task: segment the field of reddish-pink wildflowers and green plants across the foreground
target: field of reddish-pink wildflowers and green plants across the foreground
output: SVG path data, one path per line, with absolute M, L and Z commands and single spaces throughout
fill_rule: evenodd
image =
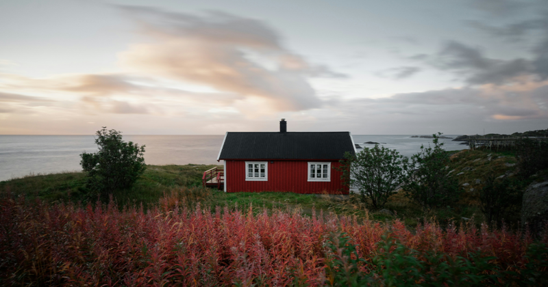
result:
M 542 286 L 548 235 L 262 208 L 4 195 L 2 286 Z

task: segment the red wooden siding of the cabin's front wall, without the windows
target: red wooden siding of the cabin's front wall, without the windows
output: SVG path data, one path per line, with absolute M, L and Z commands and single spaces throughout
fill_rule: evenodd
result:
M 318 160 L 314 160 L 320 162 Z M 226 161 L 225 184 L 227 192 L 290 191 L 295 193 L 331 193 L 348 194 L 340 180 L 340 172 L 333 167 L 340 166 L 337 161 L 331 162 L 330 182 L 309 182 L 308 161 L 274 161 L 269 162 L 268 181 L 246 181 L 245 161 Z

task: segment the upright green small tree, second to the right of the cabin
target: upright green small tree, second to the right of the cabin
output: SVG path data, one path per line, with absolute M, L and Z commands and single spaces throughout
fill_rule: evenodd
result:
M 445 169 L 449 154 L 439 142 L 440 135 L 443 133 L 433 135 L 433 148 L 421 146 L 421 151 L 411 156 L 413 171 L 403 185 L 407 196 L 423 208 L 454 202 L 460 193 L 458 181 L 450 178 Z

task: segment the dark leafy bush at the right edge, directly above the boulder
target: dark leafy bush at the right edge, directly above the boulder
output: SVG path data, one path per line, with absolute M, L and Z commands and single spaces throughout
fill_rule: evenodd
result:
M 516 141 L 516 158 L 519 173 L 525 178 L 548 168 L 548 141 L 519 139 Z

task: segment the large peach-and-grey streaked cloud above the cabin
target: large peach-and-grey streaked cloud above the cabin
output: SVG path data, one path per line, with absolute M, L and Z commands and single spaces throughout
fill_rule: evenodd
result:
M 134 6 L 120 9 L 139 23 L 140 33 L 155 40 L 119 54 L 121 64 L 141 72 L 263 98 L 278 111 L 322 106 L 309 77 L 345 77 L 291 53 L 278 33 L 260 20 L 222 12 L 197 16 Z

